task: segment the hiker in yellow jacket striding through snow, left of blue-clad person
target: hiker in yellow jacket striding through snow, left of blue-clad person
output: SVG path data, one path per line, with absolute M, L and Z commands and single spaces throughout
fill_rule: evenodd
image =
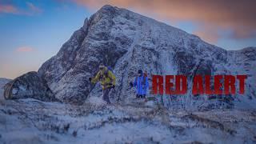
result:
M 115 86 L 115 76 L 111 70 L 109 70 L 106 66 L 101 64 L 99 66 L 98 73 L 94 78 L 89 78 L 89 81 L 92 83 L 97 83 L 98 81 L 102 85 L 103 90 L 103 100 L 107 102 L 107 104 L 110 104 L 110 98 L 109 93 L 110 90 Z

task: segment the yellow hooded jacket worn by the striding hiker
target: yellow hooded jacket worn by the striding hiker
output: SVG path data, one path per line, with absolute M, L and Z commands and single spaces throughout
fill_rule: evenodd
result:
M 91 79 L 91 82 L 93 83 L 97 83 L 98 81 L 102 85 L 102 90 L 105 90 L 110 86 L 115 86 L 115 76 L 110 70 L 107 70 L 107 67 L 99 70 L 96 76 Z

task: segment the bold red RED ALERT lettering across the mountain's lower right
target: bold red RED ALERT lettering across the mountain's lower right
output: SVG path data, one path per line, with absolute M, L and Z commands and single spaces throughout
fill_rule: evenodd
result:
M 192 94 L 239 94 L 245 93 L 246 75 L 196 75 L 193 78 Z M 211 80 L 212 79 L 212 80 Z M 236 82 L 239 85 L 236 85 Z M 164 93 L 164 77 L 161 75 L 152 76 L 152 93 Z M 211 89 L 214 86 L 214 90 Z M 238 87 L 236 87 L 238 86 Z M 185 75 L 165 76 L 166 94 L 186 94 L 187 78 Z

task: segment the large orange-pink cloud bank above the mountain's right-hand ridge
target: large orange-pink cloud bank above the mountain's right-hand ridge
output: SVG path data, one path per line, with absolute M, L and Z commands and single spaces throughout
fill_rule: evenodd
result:
M 66 0 L 67 1 L 67 0 Z M 198 23 L 195 34 L 218 40 L 218 30 L 232 30 L 230 38 L 256 37 L 256 1 L 254 0 L 70 0 L 90 10 L 105 4 L 124 7 L 158 20 Z M 64 1 L 65 2 L 65 1 Z M 203 31 L 214 32 L 206 34 Z

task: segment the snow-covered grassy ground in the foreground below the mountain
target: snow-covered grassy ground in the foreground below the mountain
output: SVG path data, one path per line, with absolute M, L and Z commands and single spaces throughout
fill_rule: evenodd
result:
M 254 143 L 256 110 L 167 111 L 159 106 L 72 106 L 0 101 L 3 143 Z

